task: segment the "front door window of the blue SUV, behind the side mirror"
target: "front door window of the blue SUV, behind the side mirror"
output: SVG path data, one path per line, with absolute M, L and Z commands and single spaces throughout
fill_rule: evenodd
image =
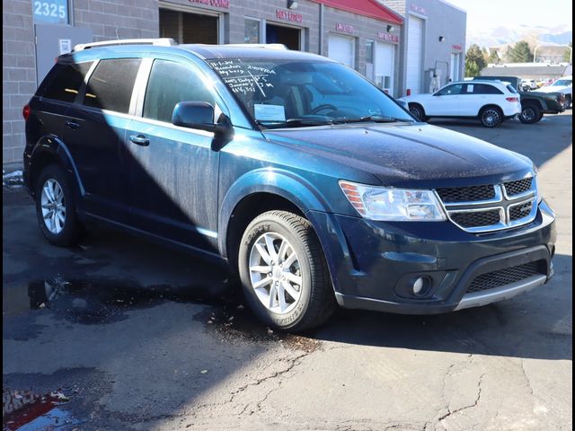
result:
M 155 60 L 147 83 L 143 116 L 171 123 L 173 108 L 180 101 L 208 101 L 212 105 L 215 102 L 191 66 Z

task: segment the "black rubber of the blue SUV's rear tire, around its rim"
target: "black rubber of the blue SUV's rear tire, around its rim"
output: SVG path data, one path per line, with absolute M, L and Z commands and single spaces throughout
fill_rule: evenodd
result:
M 60 189 L 63 193 L 62 202 L 65 207 L 64 221 L 62 222 L 60 232 L 50 232 L 49 226 L 45 221 L 42 210 L 42 189 L 47 184 L 48 181 L 57 181 Z M 69 247 L 75 245 L 82 232 L 82 226 L 78 221 L 75 212 L 75 201 L 72 189 L 70 187 L 70 181 L 66 176 L 66 172 L 56 164 L 50 164 L 45 167 L 38 176 L 36 181 L 36 216 L 38 217 L 38 224 L 40 225 L 40 231 L 44 234 L 48 242 L 52 245 L 57 245 L 59 247 Z

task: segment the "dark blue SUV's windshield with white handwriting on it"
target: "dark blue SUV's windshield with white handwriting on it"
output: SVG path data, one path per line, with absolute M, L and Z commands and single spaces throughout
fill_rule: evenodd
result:
M 391 97 L 338 63 L 253 58 L 208 63 L 263 128 L 414 121 Z

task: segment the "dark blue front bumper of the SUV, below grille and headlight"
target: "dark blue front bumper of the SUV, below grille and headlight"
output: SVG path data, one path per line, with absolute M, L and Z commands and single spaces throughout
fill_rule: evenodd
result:
M 385 223 L 310 212 L 346 308 L 431 314 L 484 305 L 526 292 L 552 276 L 554 215 L 543 201 L 535 220 L 517 229 L 477 235 L 450 222 Z M 537 273 L 479 292 L 468 292 L 485 274 L 535 264 Z M 413 295 L 418 277 L 429 280 Z

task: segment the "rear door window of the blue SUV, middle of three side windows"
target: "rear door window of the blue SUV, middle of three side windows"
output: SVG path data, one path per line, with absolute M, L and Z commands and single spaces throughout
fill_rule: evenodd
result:
M 139 58 L 102 60 L 90 76 L 84 105 L 127 113 L 139 66 Z

